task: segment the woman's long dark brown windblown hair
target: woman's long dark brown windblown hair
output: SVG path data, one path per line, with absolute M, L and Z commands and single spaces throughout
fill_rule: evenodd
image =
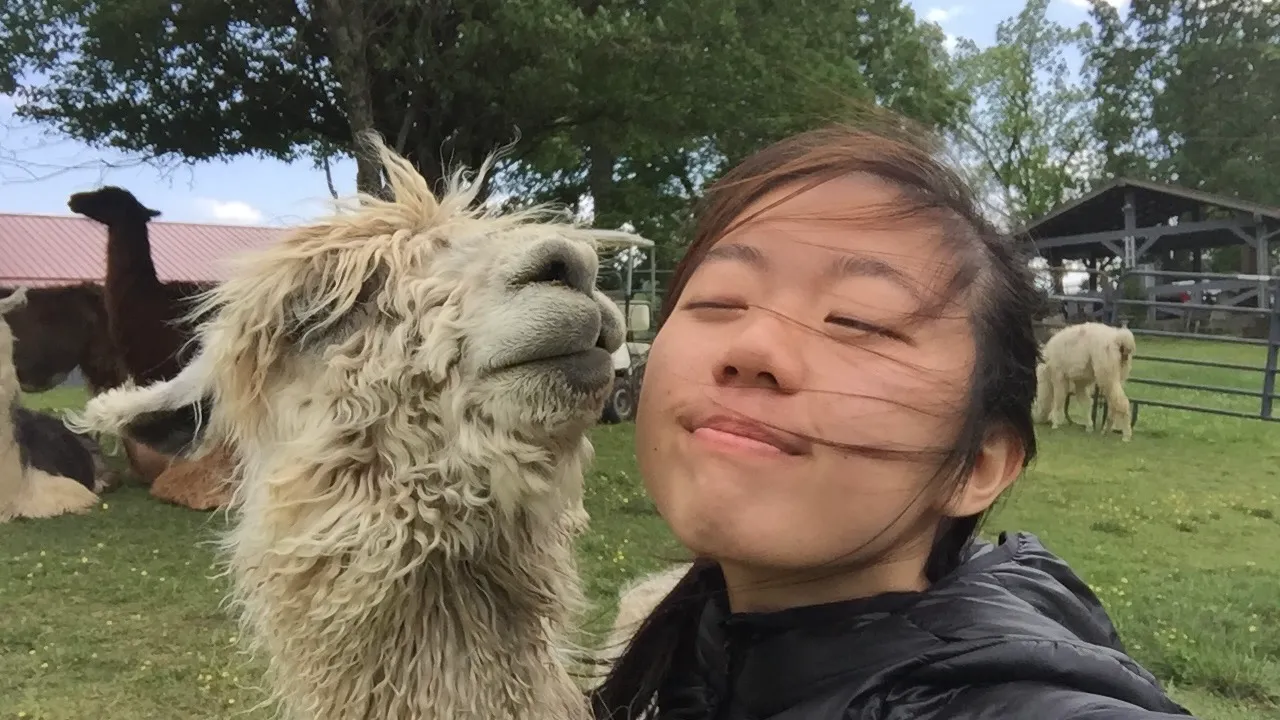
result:
M 890 223 L 923 219 L 941 229 L 957 260 L 942 301 L 966 302 L 977 348 L 970 401 L 938 477 L 956 486 L 963 483 L 992 430 L 1006 432 L 1021 443 L 1025 466 L 1036 456 L 1030 407 L 1039 359 L 1033 331 L 1039 297 L 1029 256 L 982 215 L 968 183 L 938 160 L 929 132 L 879 111 L 869 111 L 868 117 L 869 122 L 856 126 L 832 124 L 782 140 L 716 182 L 696 209 L 694 237 L 676 265 L 662 316 L 671 315 L 712 246 L 764 211 L 748 217 L 748 209 L 764 196 L 794 188 L 791 196 L 852 174 L 886 181 L 900 191 L 901 201 L 892 208 L 877 208 L 876 218 L 870 219 Z M 852 450 L 886 455 L 874 448 Z M 960 565 L 980 521 L 982 514 L 942 521 L 925 566 L 929 582 Z M 667 676 L 677 670 L 672 664 L 691 659 L 701 610 L 708 597 L 719 592 L 724 587 L 716 564 L 696 560 L 637 628 L 622 657 L 593 693 L 595 717 L 639 717 L 655 702 Z

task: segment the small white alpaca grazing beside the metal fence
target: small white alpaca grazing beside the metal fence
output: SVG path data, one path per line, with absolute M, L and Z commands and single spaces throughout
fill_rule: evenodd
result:
M 1089 407 L 1089 388 L 1097 386 L 1107 401 L 1102 432 L 1119 427 L 1123 438 L 1132 439 L 1133 423 L 1124 383 L 1133 369 L 1135 348 L 1129 328 L 1080 323 L 1059 331 L 1044 343 L 1044 361 L 1036 368 L 1036 420 L 1052 423 L 1057 429 L 1066 423 L 1068 396 L 1074 395 L 1078 407 Z

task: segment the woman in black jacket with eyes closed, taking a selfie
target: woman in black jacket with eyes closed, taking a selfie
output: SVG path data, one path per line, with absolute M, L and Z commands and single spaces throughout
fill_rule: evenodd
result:
M 975 541 L 1036 455 L 1039 300 L 909 132 L 809 132 L 709 191 L 636 419 L 698 561 L 596 717 L 1187 715 L 1034 537 Z

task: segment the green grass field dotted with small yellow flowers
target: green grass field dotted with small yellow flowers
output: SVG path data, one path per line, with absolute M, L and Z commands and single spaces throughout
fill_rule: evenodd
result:
M 1261 363 L 1251 347 L 1139 343 L 1139 354 Z M 1143 361 L 1134 375 L 1260 386 L 1257 375 Z M 1140 384 L 1129 392 L 1257 402 Z M 1280 425 L 1148 407 L 1129 445 L 1080 428 L 1041 437 L 1039 460 L 987 534 L 1032 530 L 1066 557 L 1130 652 L 1197 716 L 1280 720 Z M 594 438 L 593 530 L 581 557 L 602 629 L 618 584 L 678 548 L 640 488 L 631 427 Z M 207 541 L 219 523 L 129 487 L 88 516 L 0 527 L 0 720 L 268 717 L 246 712 L 261 697 L 257 670 L 237 652 L 219 606 L 223 582 L 211 577 Z

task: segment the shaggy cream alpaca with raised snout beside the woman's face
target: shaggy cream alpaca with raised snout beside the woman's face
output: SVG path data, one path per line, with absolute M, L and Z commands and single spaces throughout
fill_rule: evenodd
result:
M 285 716 L 586 719 L 572 542 L 623 340 L 595 242 L 621 233 L 472 208 L 461 173 L 436 199 L 378 151 L 393 201 L 246 256 L 182 374 L 68 421 L 211 400 L 205 442 L 238 461 L 233 598 Z

